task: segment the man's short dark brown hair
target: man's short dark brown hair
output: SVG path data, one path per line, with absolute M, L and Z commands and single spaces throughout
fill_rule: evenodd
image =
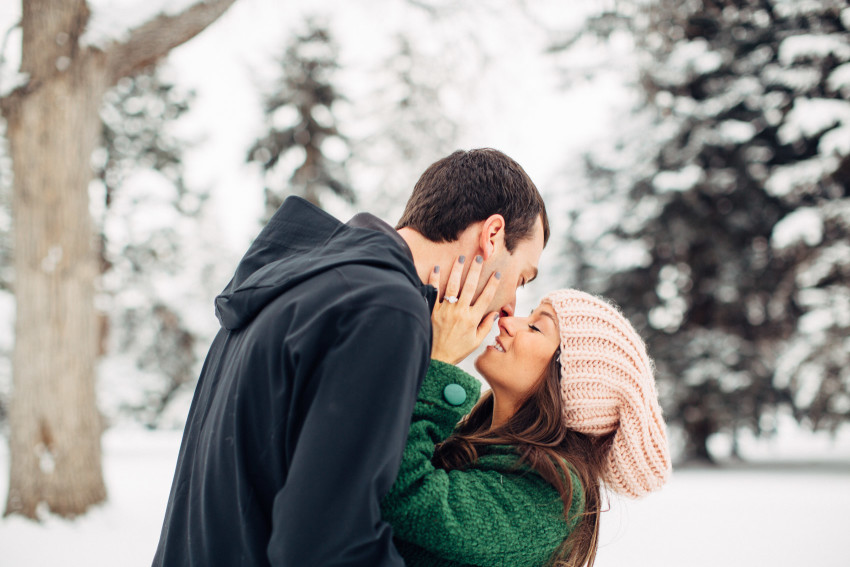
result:
M 538 216 L 543 242 L 549 241 L 543 198 L 525 170 L 498 150 L 458 150 L 425 170 L 396 228 L 410 227 L 432 242 L 453 242 L 469 225 L 495 214 L 505 219 L 508 252 L 531 237 Z

